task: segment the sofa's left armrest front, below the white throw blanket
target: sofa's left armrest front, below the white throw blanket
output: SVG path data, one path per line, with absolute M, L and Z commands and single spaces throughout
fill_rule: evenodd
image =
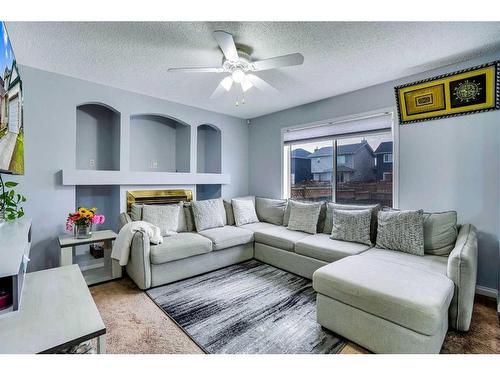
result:
M 151 288 L 151 263 L 149 260 L 149 237 L 137 232 L 132 239 L 127 274 L 141 289 Z

